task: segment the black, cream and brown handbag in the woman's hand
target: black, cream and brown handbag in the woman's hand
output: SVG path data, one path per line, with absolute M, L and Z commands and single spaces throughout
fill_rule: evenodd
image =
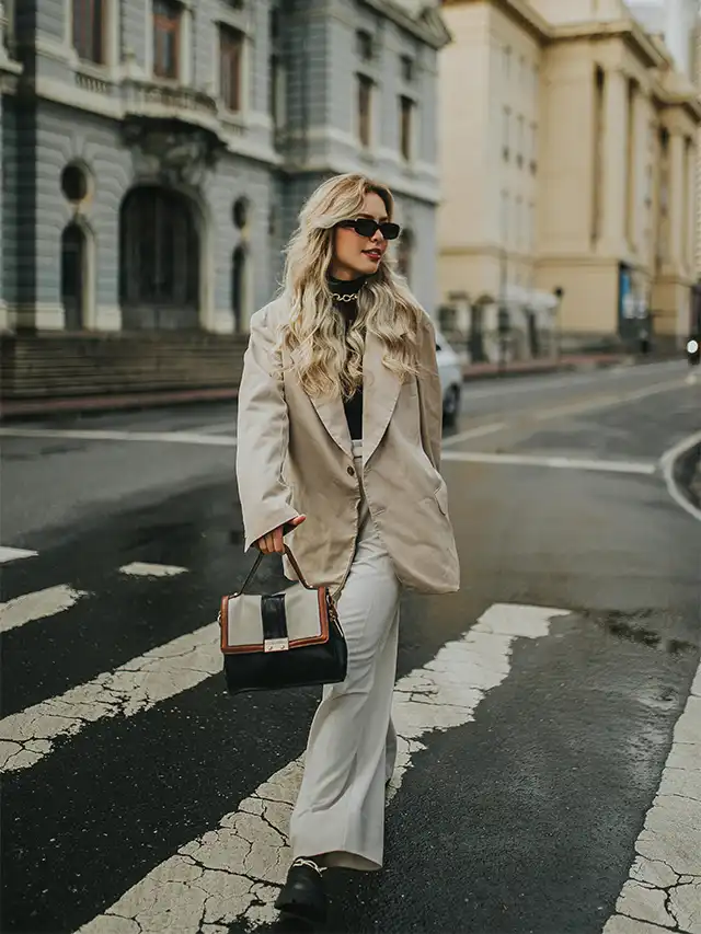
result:
M 227 690 L 267 691 L 334 684 L 346 677 L 348 649 L 327 587 L 310 587 L 291 551 L 299 584 L 278 593 L 245 593 L 263 553 L 241 589 L 221 598 L 219 624 Z

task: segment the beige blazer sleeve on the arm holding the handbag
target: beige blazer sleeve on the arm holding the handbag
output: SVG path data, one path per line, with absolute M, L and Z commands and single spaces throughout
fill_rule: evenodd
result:
M 274 373 L 275 335 L 266 310 L 251 319 L 239 388 L 237 481 L 244 551 L 299 514 L 283 480 L 289 423 L 281 378 Z

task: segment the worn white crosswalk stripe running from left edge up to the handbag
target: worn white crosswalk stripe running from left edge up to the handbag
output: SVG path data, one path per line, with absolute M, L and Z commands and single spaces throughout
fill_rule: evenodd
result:
M 0 772 L 30 769 L 57 739 L 107 717 L 133 717 L 221 671 L 219 624 L 179 636 L 58 697 L 0 720 Z

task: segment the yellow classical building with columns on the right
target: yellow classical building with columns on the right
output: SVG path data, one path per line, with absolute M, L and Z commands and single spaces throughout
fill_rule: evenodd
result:
M 509 356 L 681 341 L 701 103 L 663 43 L 622 0 L 441 9 L 444 325 L 475 358 L 496 354 L 499 304 Z

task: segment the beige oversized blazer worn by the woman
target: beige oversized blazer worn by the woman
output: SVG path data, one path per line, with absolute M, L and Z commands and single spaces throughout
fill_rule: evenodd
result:
M 332 590 L 345 583 L 358 530 L 360 478 L 340 399 L 312 400 L 274 349 L 289 320 L 283 297 L 251 319 L 239 390 L 237 477 L 245 549 L 303 514 L 286 537 L 303 575 Z M 399 580 L 425 593 L 460 586 L 448 493 L 439 474 L 443 393 L 434 327 L 420 334 L 424 376 L 402 382 L 368 335 L 364 357 L 363 488 Z M 294 579 L 287 558 L 285 573 Z

